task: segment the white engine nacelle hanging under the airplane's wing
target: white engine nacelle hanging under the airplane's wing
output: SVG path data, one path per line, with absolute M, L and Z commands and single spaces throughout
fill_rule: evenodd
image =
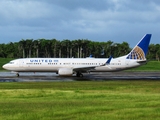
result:
M 59 76 L 72 76 L 73 70 L 71 68 L 60 68 L 58 74 Z

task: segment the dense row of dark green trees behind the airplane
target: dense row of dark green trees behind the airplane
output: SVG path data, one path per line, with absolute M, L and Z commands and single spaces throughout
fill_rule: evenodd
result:
M 114 43 L 95 42 L 88 39 L 56 40 L 56 39 L 22 39 L 19 42 L 0 44 L 1 58 L 85 58 L 93 55 L 96 58 L 108 58 L 128 54 L 131 48 L 127 42 Z M 160 58 L 160 44 L 150 44 L 147 58 L 158 60 Z

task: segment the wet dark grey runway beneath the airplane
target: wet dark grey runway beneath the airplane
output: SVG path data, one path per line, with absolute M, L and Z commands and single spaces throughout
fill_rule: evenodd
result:
M 43 82 L 43 81 L 105 81 L 105 80 L 160 80 L 160 72 L 102 72 L 85 73 L 83 77 L 61 77 L 55 73 L 20 73 L 17 77 L 15 73 L 0 72 L 0 82 Z

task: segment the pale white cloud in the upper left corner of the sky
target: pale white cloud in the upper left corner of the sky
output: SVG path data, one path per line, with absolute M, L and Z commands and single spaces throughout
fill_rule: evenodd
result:
M 51 14 L 46 4 L 38 1 L 1 0 L 0 15 L 7 19 L 41 18 Z

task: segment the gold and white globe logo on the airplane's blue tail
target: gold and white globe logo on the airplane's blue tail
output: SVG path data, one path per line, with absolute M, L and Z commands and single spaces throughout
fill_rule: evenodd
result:
M 145 54 L 143 50 L 139 47 L 136 46 L 127 56 L 127 59 L 138 59 L 138 60 L 145 60 Z

